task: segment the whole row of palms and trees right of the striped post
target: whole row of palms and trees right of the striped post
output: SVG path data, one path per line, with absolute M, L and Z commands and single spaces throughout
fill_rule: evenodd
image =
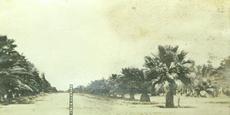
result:
M 78 86 L 75 92 L 124 98 L 129 94 L 141 94 L 140 101 L 150 102 L 150 95 L 165 95 L 166 107 L 174 107 L 174 95 L 216 97 L 221 93 L 230 95 L 230 57 L 214 68 L 208 61 L 195 65 L 186 58 L 187 52 L 178 46 L 158 46 L 158 53 L 145 56 L 143 68 L 122 68 L 121 73 L 108 79 L 92 81 L 88 86 Z

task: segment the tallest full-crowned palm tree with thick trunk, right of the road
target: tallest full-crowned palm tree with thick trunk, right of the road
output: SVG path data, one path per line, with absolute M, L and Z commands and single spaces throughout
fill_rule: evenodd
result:
M 147 79 L 155 84 L 167 84 L 166 107 L 174 107 L 173 95 L 176 94 L 176 80 L 188 85 L 189 66 L 192 61 L 185 60 L 187 53 L 179 52 L 178 46 L 158 46 L 158 55 L 146 56 L 145 67 Z

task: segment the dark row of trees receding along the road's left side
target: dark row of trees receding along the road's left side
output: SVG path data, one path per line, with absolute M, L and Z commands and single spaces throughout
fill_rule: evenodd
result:
M 13 99 L 54 92 L 37 68 L 25 56 L 15 50 L 13 39 L 0 36 L 0 103 L 11 103 Z

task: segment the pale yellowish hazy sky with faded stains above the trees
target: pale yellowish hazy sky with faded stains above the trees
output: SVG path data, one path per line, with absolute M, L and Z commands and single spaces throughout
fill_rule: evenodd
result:
M 230 55 L 229 0 L 0 0 L 0 34 L 59 89 L 142 67 L 157 45 Z

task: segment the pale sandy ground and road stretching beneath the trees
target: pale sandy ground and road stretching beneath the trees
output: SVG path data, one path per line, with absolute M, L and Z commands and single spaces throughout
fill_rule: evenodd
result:
M 136 97 L 138 98 L 138 96 Z M 183 108 L 162 108 L 164 97 L 152 103 L 74 95 L 74 115 L 230 115 L 230 98 L 181 97 Z M 49 94 L 34 104 L 0 105 L 0 115 L 68 115 L 68 94 Z

